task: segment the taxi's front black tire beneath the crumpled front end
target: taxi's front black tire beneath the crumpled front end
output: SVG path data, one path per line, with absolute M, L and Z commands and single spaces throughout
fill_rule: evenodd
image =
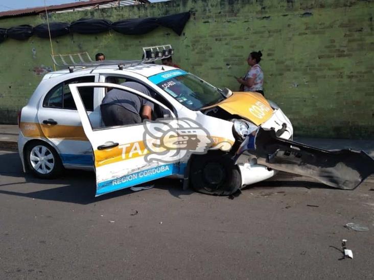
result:
M 238 167 L 222 152 L 194 156 L 190 179 L 195 191 L 211 195 L 231 195 L 242 185 Z

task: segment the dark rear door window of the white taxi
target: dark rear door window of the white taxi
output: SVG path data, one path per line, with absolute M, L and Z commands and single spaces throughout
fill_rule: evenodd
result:
M 58 84 L 45 96 L 43 107 L 77 110 L 72 93 L 69 89 L 69 84 L 91 82 L 95 82 L 95 76 L 75 78 Z M 80 96 L 86 110 L 93 111 L 93 89 L 82 88 Z

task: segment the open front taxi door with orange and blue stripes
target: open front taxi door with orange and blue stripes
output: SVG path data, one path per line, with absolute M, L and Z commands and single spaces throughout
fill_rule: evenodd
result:
M 151 153 L 146 148 L 144 139 L 146 130 L 152 129 L 153 125 L 157 126 L 156 130 L 160 129 L 160 123 L 147 122 L 146 124 L 143 122 L 123 126 L 93 126 L 79 94 L 80 89 L 87 87 L 125 90 L 149 99 L 153 104 L 168 111 L 174 120 L 175 115 L 152 97 L 128 87 L 108 83 L 70 85 L 84 132 L 93 150 L 97 184 L 96 196 L 179 173 L 177 161 L 163 160 L 163 155 L 167 153 L 157 154 L 156 157 L 148 156 Z M 151 160 L 147 160 L 147 158 Z

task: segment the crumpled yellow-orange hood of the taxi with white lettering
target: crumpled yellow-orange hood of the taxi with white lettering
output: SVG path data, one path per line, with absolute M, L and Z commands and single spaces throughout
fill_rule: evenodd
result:
M 230 97 L 216 106 L 232 115 L 250 120 L 256 125 L 267 121 L 273 114 L 273 109 L 265 97 L 256 92 L 233 92 Z

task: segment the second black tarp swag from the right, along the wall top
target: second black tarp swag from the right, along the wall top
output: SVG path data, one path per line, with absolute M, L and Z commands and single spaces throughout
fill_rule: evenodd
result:
M 114 31 L 126 35 L 141 35 L 158 27 L 156 17 L 132 18 L 116 21 L 112 24 Z

